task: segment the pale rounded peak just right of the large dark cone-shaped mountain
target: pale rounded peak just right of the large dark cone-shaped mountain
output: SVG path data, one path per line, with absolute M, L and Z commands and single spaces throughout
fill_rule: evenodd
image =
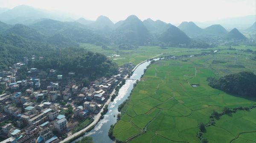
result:
M 197 25 L 195 25 L 194 22 L 182 22 L 178 28 L 185 32 L 189 36 L 198 36 L 204 32 L 204 30 Z

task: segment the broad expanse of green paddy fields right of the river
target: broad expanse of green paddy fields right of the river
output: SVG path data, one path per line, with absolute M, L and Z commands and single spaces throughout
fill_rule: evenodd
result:
M 244 70 L 255 73 L 254 56 L 223 48 L 215 54 L 154 62 L 134 87 L 113 135 L 131 143 L 199 143 L 198 124 L 208 123 L 214 110 L 256 104 L 255 99 L 209 87 L 207 78 Z M 223 115 L 215 122 L 204 133 L 209 143 L 255 143 L 256 109 Z

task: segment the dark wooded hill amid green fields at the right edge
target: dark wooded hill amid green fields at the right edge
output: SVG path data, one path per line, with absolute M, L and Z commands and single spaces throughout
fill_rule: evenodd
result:
M 251 72 L 230 74 L 220 79 L 208 78 L 208 82 L 211 87 L 227 93 L 256 97 L 256 75 Z

